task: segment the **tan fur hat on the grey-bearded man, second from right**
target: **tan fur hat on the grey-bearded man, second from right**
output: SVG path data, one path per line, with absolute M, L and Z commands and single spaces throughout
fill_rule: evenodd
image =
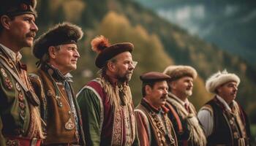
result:
M 194 80 L 197 77 L 197 71 L 192 66 L 167 66 L 163 73 L 169 75 L 172 81 L 186 76 Z

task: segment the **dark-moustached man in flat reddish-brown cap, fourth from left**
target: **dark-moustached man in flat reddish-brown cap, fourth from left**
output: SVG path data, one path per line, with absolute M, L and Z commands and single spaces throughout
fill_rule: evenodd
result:
M 147 72 L 140 76 L 140 80 L 143 82 L 143 99 L 135 109 L 140 146 L 177 146 L 173 124 L 165 107 L 170 77 L 161 72 Z

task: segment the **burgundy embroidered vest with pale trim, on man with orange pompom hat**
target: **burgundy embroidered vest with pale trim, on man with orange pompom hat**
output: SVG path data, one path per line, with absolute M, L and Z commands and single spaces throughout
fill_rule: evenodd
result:
M 132 145 L 135 140 L 135 114 L 132 104 L 115 108 L 100 84 L 92 80 L 84 88 L 89 88 L 98 96 L 101 103 L 99 123 L 100 145 Z M 111 98 L 111 97 L 110 97 Z

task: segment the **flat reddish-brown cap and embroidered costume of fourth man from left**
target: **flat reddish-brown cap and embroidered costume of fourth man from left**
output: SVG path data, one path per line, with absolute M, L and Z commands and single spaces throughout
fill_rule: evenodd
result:
M 143 84 L 169 80 L 170 77 L 158 73 L 148 72 L 140 76 Z M 138 125 L 138 137 L 140 146 L 149 145 L 178 145 L 173 124 L 167 117 L 169 110 L 163 105 L 156 108 L 144 97 L 135 109 L 135 116 Z

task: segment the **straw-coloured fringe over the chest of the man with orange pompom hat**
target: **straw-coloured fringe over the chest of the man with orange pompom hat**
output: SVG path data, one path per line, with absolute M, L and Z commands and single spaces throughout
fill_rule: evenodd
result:
M 104 77 L 100 77 L 99 81 L 107 94 L 108 101 L 111 105 L 113 105 L 113 107 L 117 109 L 120 108 L 121 98 L 124 99 L 125 105 L 132 104 L 132 93 L 127 84 L 123 84 L 120 88 L 118 88 L 117 85 L 113 87 L 113 85 L 106 81 Z M 124 97 L 119 96 L 120 91 L 124 93 Z

